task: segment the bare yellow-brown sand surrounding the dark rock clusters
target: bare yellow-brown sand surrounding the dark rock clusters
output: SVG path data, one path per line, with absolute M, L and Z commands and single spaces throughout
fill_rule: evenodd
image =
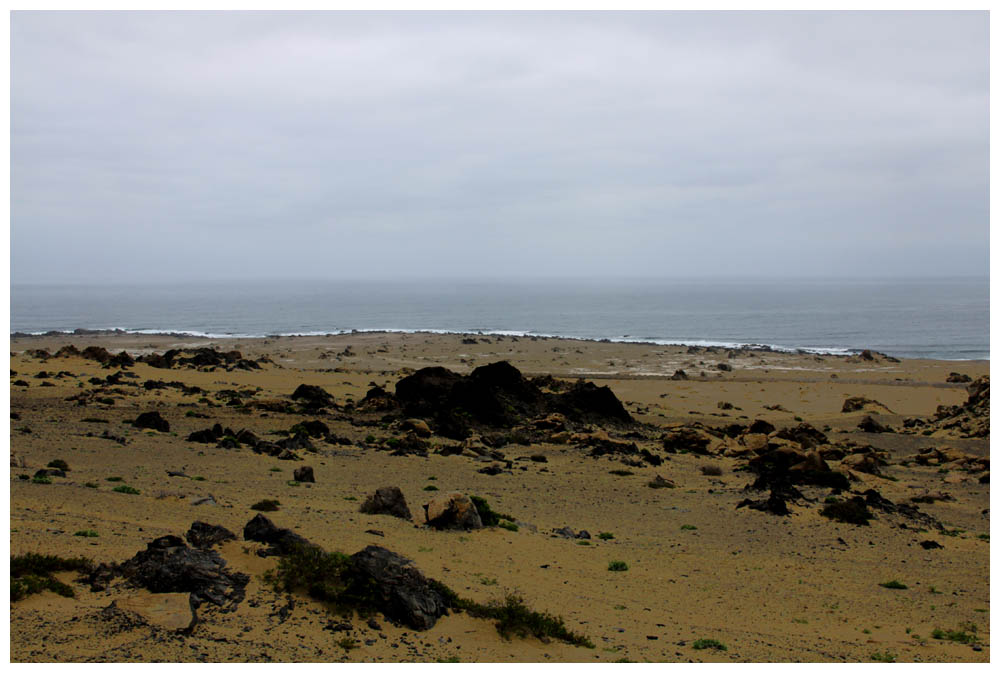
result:
M 989 456 L 988 439 L 870 434 L 856 430 L 866 412 L 842 413 L 845 399 L 864 396 L 892 413 L 877 418 L 899 428 L 903 419 L 930 417 L 938 405 L 963 403 L 962 384 L 946 383 L 951 372 L 973 378 L 988 374 L 988 362 L 814 356 L 725 350 L 689 353 L 681 346 L 597 343 L 559 339 L 470 337 L 433 334 L 350 334 L 330 337 L 204 340 L 171 336 L 94 335 L 14 338 L 11 369 L 12 467 L 11 554 L 84 555 L 121 562 L 161 535 L 183 535 L 195 520 L 236 532 L 221 549 L 230 567 L 251 576 L 247 599 L 234 612 L 199 610 L 190 633 L 125 623 L 102 612 L 118 600 L 154 601 L 148 592 L 118 583 L 108 592 L 76 586 L 73 598 L 52 593 L 11 606 L 11 660 L 27 661 L 461 661 L 461 662 L 672 662 L 672 661 L 897 661 L 989 660 L 989 484 L 979 474 L 915 463 L 900 464 L 927 447 L 955 448 Z M 113 405 L 78 406 L 66 398 L 92 388 L 90 377 L 113 371 L 78 357 L 44 361 L 28 349 L 54 352 L 66 344 L 100 345 L 132 355 L 168 348 L 211 345 L 238 349 L 245 357 L 269 356 L 260 371 L 213 372 L 154 369 L 136 364 L 134 381 L 182 381 L 209 391 L 260 389 L 255 399 L 288 399 L 302 383 L 322 386 L 338 403 L 360 400 L 370 382 L 390 391 L 405 373 L 441 365 L 468 373 L 507 360 L 525 375 L 586 378 L 609 386 L 633 417 L 653 426 L 701 422 L 722 426 L 766 419 L 777 427 L 800 420 L 828 427 L 831 442 L 855 441 L 888 452 L 886 477 L 856 474 L 852 490 L 877 489 L 893 502 L 940 491 L 953 501 L 921 504 L 944 532 L 900 527 L 900 519 L 877 515 L 870 526 L 836 523 L 819 515 L 822 503 L 792 506 L 774 516 L 736 505 L 747 497 L 752 475 L 734 472 L 744 461 L 726 456 L 673 454 L 658 467 L 625 468 L 607 457 L 591 458 L 571 444 L 510 444 L 511 474 L 478 472 L 488 463 L 465 456 L 392 456 L 359 446 L 378 427 L 324 421 L 351 445 L 320 444 L 302 463 L 185 441 L 215 422 L 249 428 L 264 437 L 311 417 L 241 413 L 233 407 L 197 403 L 174 389 L 122 387 Z M 345 349 L 350 347 L 350 354 Z M 720 371 L 720 363 L 732 371 Z M 671 380 L 683 369 L 689 379 Z M 66 371 L 78 378 L 36 379 L 40 371 Z M 52 386 L 42 387 L 47 381 Z M 723 410 L 728 402 L 733 409 Z M 194 405 L 182 407 L 181 404 Z M 766 407 L 780 405 L 777 410 Z M 136 430 L 124 421 L 159 411 L 170 432 Z M 192 418 L 188 411 L 210 418 Z M 107 424 L 84 422 L 101 418 Z M 98 436 L 105 429 L 125 445 Z M 432 442 L 441 441 L 435 437 Z M 646 442 L 651 449 L 658 447 Z M 541 454 L 547 462 L 517 458 Z M 19 478 L 49 461 L 70 465 L 65 479 L 36 484 Z M 17 462 L 18 465 L 14 466 Z M 23 466 L 22 466 L 23 464 Z M 292 470 L 311 465 L 315 484 L 289 485 Z M 715 465 L 721 475 L 705 475 Z M 521 468 L 525 469 L 521 469 Z M 190 477 L 168 477 L 183 470 Z M 652 489 L 661 475 L 673 489 Z M 139 495 L 117 493 L 117 482 Z M 95 484 L 96 488 L 85 484 Z M 381 486 L 402 489 L 410 509 L 435 494 L 457 490 L 489 500 L 515 517 L 517 532 L 499 528 L 437 531 L 390 516 L 358 512 Z M 208 495 L 216 504 L 195 505 Z M 277 498 L 268 516 L 328 550 L 353 553 L 369 544 L 412 559 L 428 577 L 463 596 L 486 601 L 510 592 L 532 608 L 562 616 L 589 637 L 593 649 L 535 638 L 504 640 L 493 625 L 466 614 L 443 617 L 430 630 L 400 628 L 379 616 L 379 630 L 355 617 L 352 631 L 327 627 L 344 621 L 305 596 L 278 594 L 262 580 L 276 561 L 253 552 L 259 545 L 240 534 L 252 503 Z M 553 537 L 555 528 L 585 529 L 589 544 Z M 366 532 L 378 530 L 382 536 Z M 74 535 L 93 530 L 97 537 Z M 953 532 L 953 531 L 961 532 Z M 597 534 L 611 533 L 601 540 Z M 985 535 L 985 539 L 980 536 Z M 933 540 L 942 549 L 925 550 Z M 611 561 L 628 570 L 610 572 Z M 73 573 L 65 575 L 67 579 Z M 897 580 L 905 590 L 883 588 Z M 136 597 L 140 598 L 136 598 Z M 291 609 L 282 610 L 292 604 Z M 970 631 L 978 644 L 936 640 L 934 629 Z M 356 648 L 338 644 L 347 636 Z M 712 638 L 725 650 L 694 649 Z

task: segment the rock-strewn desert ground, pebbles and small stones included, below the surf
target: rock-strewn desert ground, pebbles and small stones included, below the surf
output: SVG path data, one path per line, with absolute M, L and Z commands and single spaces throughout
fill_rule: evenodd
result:
M 57 357 L 67 345 L 94 348 Z M 128 362 L 204 348 L 239 358 Z M 129 357 L 102 363 L 99 349 Z M 393 397 L 422 368 L 468 375 L 501 361 L 547 400 L 578 379 L 608 386 L 633 421 L 546 409 L 503 427 L 473 418 L 456 438 L 442 434 L 433 401 L 407 423 L 410 408 Z M 235 534 L 212 548 L 249 578 L 242 600 L 202 602 L 192 621 L 184 592 L 122 576 L 92 588 L 86 573 L 56 573 L 73 596 L 11 604 L 14 662 L 990 658 L 988 378 L 985 415 L 963 406 L 988 362 L 496 335 L 92 334 L 14 336 L 10 368 L 12 557 L 113 566 L 201 521 Z M 303 384 L 332 400 L 293 400 Z M 387 396 L 370 394 L 379 388 Z M 851 398 L 864 399 L 844 411 Z M 133 424 L 148 412 L 169 429 Z M 328 431 L 280 453 L 230 435 L 273 446 L 314 420 Z M 215 424 L 219 441 L 189 439 Z M 65 476 L 36 476 L 59 460 Z M 295 479 L 303 466 L 314 483 Z M 748 488 L 758 478 L 773 481 L 770 498 Z M 383 487 L 400 489 L 412 520 L 359 511 Z M 452 492 L 485 498 L 513 525 L 426 525 L 423 506 Z M 280 554 L 261 556 L 264 545 L 244 537 L 262 499 L 280 502 L 263 513 L 276 526 L 324 550 L 378 545 L 463 598 L 519 595 L 593 647 L 504 638 L 468 610 L 418 630 L 279 590 L 264 574 Z M 866 525 L 821 513 L 847 501 L 867 503 Z

